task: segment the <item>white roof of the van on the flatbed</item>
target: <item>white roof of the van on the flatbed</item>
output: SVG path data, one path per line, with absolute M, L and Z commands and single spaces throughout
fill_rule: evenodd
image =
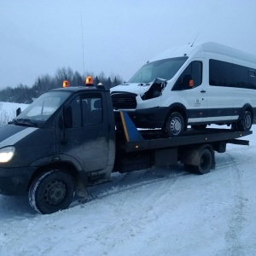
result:
M 235 57 L 236 59 L 256 63 L 256 55 L 251 55 L 240 49 L 235 49 L 230 46 L 226 46 L 224 44 L 218 44 L 218 43 L 212 43 L 212 42 L 201 43 L 201 44 L 186 44 L 186 45 L 175 47 L 172 49 L 167 49 L 166 51 L 160 53 L 159 55 L 154 55 L 154 57 L 151 58 L 149 62 L 168 59 L 168 58 L 181 57 L 181 56 L 190 57 L 195 54 L 198 54 L 199 52 L 210 52 L 210 53 L 216 53 L 220 55 L 227 55 L 227 56 Z

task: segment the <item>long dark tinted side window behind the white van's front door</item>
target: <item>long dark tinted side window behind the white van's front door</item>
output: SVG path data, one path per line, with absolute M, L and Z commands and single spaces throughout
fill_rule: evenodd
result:
M 230 62 L 209 60 L 209 84 L 256 89 L 255 70 Z

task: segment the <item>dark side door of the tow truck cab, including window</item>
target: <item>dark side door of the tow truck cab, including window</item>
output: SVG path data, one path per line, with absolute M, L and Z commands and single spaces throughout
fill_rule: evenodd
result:
M 73 98 L 70 102 L 73 125 L 60 131 L 56 143 L 57 153 L 78 160 L 85 172 L 101 170 L 108 165 L 108 113 L 103 108 L 103 100 L 99 92 Z

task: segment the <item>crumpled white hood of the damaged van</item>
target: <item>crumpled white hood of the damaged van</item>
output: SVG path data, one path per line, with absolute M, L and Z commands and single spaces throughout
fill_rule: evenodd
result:
M 115 92 L 130 92 L 130 93 L 135 93 L 137 95 L 143 96 L 145 92 L 147 92 L 152 85 L 158 84 L 161 86 L 161 88 L 165 88 L 167 81 L 166 79 L 154 79 L 151 83 L 148 84 L 143 84 L 143 83 L 131 83 L 131 84 L 120 84 L 112 89 L 110 89 L 111 94 Z

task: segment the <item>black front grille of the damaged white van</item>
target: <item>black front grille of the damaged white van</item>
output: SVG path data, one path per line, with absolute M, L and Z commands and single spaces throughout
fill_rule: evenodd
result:
M 137 108 L 136 94 L 113 92 L 111 95 L 113 109 L 135 109 Z

